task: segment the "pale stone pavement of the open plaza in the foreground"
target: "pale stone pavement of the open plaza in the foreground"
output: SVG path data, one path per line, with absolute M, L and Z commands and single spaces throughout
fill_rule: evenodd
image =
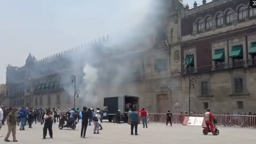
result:
M 164 127 L 162 123 L 150 123 L 148 129 L 139 125 L 139 136 L 130 135 L 130 126 L 122 123 L 103 122 L 103 130 L 100 134 L 93 134 L 93 126 L 88 126 L 87 139 L 80 138 L 80 123 L 76 130 L 58 129 L 53 125 L 54 139 L 42 140 L 42 125 L 33 125 L 32 129 L 19 131 L 17 127 L 17 139 L 19 144 L 255 144 L 256 129 L 234 128 L 220 126 L 220 135 L 203 135 L 201 127 L 173 125 Z M 6 135 L 7 127 L 2 127 L 1 135 Z M 12 140 L 12 136 L 9 138 Z M 206 142 L 207 141 L 207 142 Z M 4 136 L 0 138 L 4 144 Z M 13 143 L 13 142 L 12 142 Z

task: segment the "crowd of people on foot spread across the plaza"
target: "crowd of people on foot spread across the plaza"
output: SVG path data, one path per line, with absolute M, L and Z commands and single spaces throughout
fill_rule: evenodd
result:
M 167 113 L 167 123 L 171 123 L 172 114 L 170 111 Z M 0 130 L 2 125 L 8 125 L 8 132 L 4 141 L 10 141 L 9 136 L 12 133 L 13 141 L 16 139 L 16 127 L 19 126 L 20 130 L 25 130 L 25 127 L 32 128 L 34 123 L 41 123 L 43 127 L 43 139 L 46 138 L 47 131 L 49 131 L 50 138 L 53 138 L 52 126 L 56 122 L 60 121 L 60 117 L 68 117 L 66 124 L 70 120 L 76 120 L 79 122 L 81 120 L 81 138 L 85 138 L 87 126 L 94 125 L 93 134 L 99 134 L 102 127 L 103 111 L 100 108 L 87 108 L 83 107 L 82 111 L 75 108 L 69 109 L 66 113 L 62 113 L 59 109 L 42 109 L 42 108 L 8 108 L 5 109 L 3 106 L 0 108 Z M 117 112 L 117 123 L 121 124 L 122 114 L 120 110 Z M 141 111 L 138 111 L 136 108 L 130 109 L 124 114 L 124 122 L 128 123 L 131 126 L 131 135 L 138 135 L 138 124 L 142 121 L 143 128 L 148 128 L 148 112 L 143 108 Z M 134 131 L 135 129 L 135 131 Z

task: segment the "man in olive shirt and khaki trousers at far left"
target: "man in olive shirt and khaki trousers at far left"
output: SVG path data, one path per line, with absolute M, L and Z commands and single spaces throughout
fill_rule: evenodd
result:
M 17 125 L 17 122 L 18 122 L 18 116 L 17 116 L 15 108 L 12 108 L 11 112 L 8 113 L 6 122 L 7 122 L 7 125 L 8 125 L 8 132 L 6 134 L 6 137 L 5 137 L 4 141 L 6 141 L 6 142 L 10 141 L 9 137 L 10 137 L 10 134 L 12 132 L 13 141 L 17 142 L 18 140 L 16 139 L 16 125 Z

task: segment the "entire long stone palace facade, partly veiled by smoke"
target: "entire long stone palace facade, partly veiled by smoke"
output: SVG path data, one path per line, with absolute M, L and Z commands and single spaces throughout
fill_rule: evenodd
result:
M 103 105 L 105 96 L 137 95 L 140 107 L 149 112 L 179 113 L 189 110 L 191 87 L 192 112 L 202 113 L 208 107 L 215 113 L 256 111 L 256 10 L 244 0 L 203 1 L 191 9 L 182 0 L 166 0 L 161 9 L 164 12 L 149 40 L 126 51 L 103 53 L 109 39 L 103 37 L 41 60 L 30 54 L 21 68 L 8 66 L 10 105 L 72 108 L 69 77 L 76 75 L 81 94 L 89 95 L 83 92 L 83 68 L 90 63 L 102 72 L 92 92 L 95 96 L 90 97 L 97 105 L 90 106 Z M 88 46 L 94 53 L 77 57 Z M 189 77 L 196 79 L 196 85 L 191 86 Z M 78 103 L 83 99 L 75 98 Z

